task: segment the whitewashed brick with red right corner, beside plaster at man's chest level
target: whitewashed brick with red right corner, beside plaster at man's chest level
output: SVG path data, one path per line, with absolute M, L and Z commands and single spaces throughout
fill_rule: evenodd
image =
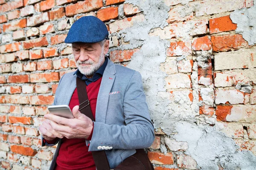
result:
M 167 89 L 178 89 L 178 88 L 191 88 L 191 79 L 189 75 L 179 73 L 171 74 L 166 77 L 166 88 Z

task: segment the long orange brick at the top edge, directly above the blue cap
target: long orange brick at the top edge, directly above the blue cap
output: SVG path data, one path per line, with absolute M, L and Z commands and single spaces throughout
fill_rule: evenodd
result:
M 76 4 L 69 5 L 66 7 L 66 16 L 71 17 L 76 14 L 94 11 L 102 7 L 103 7 L 102 0 L 79 1 Z

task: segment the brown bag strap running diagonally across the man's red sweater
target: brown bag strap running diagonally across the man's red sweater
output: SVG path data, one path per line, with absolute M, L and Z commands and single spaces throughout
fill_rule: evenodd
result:
M 85 82 L 79 77 L 76 78 L 76 88 L 80 103 L 80 112 L 94 121 L 93 113 L 90 110 L 90 103 L 85 88 Z M 92 151 L 92 154 L 97 170 L 110 170 L 108 159 L 104 150 Z

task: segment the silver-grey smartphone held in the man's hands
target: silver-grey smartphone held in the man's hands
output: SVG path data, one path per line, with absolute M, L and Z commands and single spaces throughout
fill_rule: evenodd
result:
M 72 119 L 74 118 L 70 107 L 68 105 L 55 105 L 55 106 L 48 106 L 48 110 L 51 114 L 61 116 L 64 118 Z

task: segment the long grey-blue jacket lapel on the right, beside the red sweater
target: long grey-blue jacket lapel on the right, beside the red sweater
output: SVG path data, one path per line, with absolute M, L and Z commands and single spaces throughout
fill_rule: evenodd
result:
M 109 93 L 111 91 L 111 88 L 116 78 L 115 74 L 116 74 L 116 67 L 113 64 L 113 62 L 111 62 L 108 59 L 108 64 L 103 73 L 102 82 L 100 84 L 99 94 L 97 97 L 96 115 L 95 115 L 96 122 L 105 123 L 107 108 L 108 108 Z

